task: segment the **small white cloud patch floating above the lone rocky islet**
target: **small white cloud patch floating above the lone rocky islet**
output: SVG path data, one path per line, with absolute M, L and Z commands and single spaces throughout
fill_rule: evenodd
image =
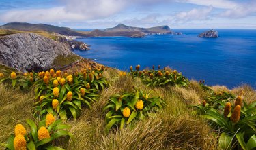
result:
M 188 12 L 180 12 L 175 15 L 174 20 L 177 22 L 188 22 L 192 20 L 206 20 L 210 12 L 212 12 L 213 7 L 203 7 L 203 8 L 194 8 Z

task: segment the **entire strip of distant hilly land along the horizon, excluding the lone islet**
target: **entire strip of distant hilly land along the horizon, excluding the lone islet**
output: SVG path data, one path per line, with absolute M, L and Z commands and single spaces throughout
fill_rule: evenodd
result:
M 66 36 L 67 39 L 76 39 L 79 37 L 144 37 L 145 35 L 162 35 L 172 34 L 181 35 L 182 33 L 176 33 L 171 31 L 169 26 L 155 26 L 151 28 L 139 28 L 134 26 L 126 26 L 124 24 L 118 24 L 117 26 L 109 29 L 93 31 L 76 31 L 67 27 L 59 27 L 48 24 L 30 24 L 23 22 L 10 22 L 0 29 L 13 29 L 18 31 L 47 31 L 49 33 L 59 33 L 60 35 Z

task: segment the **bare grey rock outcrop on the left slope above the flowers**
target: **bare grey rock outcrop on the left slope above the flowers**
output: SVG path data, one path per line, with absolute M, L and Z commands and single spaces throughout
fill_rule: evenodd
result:
M 49 69 L 57 56 L 75 55 L 68 43 L 53 41 L 35 33 L 0 37 L 0 64 L 19 71 Z

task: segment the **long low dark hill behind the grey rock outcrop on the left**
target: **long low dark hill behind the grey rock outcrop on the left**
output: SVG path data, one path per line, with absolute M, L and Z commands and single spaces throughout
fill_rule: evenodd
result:
M 83 33 L 74 31 L 67 27 L 59 27 L 48 24 L 30 24 L 23 22 L 11 22 L 0 26 L 0 29 L 14 29 L 18 31 L 47 31 L 49 33 L 59 33 L 61 35 L 86 36 Z

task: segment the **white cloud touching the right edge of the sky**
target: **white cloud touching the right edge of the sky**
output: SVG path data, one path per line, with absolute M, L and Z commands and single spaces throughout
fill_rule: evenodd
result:
M 244 18 L 256 13 L 256 1 L 245 3 L 221 13 L 219 16 L 228 18 Z

